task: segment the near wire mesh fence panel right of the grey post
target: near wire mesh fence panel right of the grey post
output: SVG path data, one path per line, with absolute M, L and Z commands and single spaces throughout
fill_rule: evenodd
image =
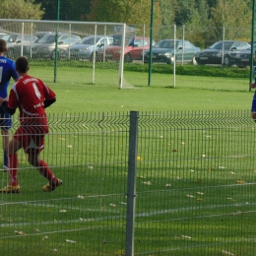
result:
M 247 111 L 142 113 L 135 255 L 253 255 Z

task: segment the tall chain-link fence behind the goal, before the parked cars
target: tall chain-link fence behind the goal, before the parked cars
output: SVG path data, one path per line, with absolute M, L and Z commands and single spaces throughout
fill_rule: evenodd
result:
M 250 40 L 249 29 L 219 28 L 215 37 L 208 38 L 209 30 L 216 29 L 191 26 L 156 27 L 153 39 L 158 42 L 175 37 L 181 41 L 188 40 L 201 50 L 218 40 Z M 148 63 L 144 62 L 145 56 L 149 56 L 150 31 L 148 25 L 136 25 L 131 28 L 124 24 L 110 23 L 0 19 L 0 32 L 6 33 L 1 36 L 8 42 L 7 56 L 28 56 L 32 75 L 43 77 L 47 83 L 112 85 L 129 89 L 148 86 L 151 71 Z M 202 71 L 202 65 L 195 65 L 198 64 L 195 61 L 195 52 L 190 52 L 189 58 L 186 58 L 186 44 L 180 42 L 180 48 L 181 55 L 176 56 L 178 62 L 175 66 L 172 63 L 175 59 L 172 53 L 160 54 L 166 61 L 154 63 L 152 85 L 209 90 L 209 78 L 204 76 L 208 71 Z M 133 55 L 131 51 L 134 52 Z M 235 57 L 235 53 L 232 55 Z M 250 56 L 246 58 L 249 61 Z M 132 63 L 127 63 L 131 61 Z M 166 62 L 169 64 L 166 65 Z M 246 79 L 244 75 L 237 75 L 241 72 L 236 70 L 236 65 L 224 68 L 219 63 L 210 65 L 210 68 L 212 66 L 216 71 L 211 73 L 215 76 L 211 81 L 211 89 L 248 91 L 248 68 L 244 69 L 244 73 L 248 73 Z M 221 75 L 216 75 L 216 72 Z M 225 76 L 229 80 L 223 83 Z

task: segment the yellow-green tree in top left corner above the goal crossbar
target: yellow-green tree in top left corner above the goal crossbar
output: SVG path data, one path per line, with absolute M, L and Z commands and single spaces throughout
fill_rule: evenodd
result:
M 44 10 L 34 0 L 1 0 L 0 17 L 2 19 L 40 20 Z

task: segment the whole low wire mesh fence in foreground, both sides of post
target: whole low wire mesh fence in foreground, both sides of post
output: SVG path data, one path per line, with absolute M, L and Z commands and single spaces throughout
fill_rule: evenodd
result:
M 141 112 L 137 127 L 131 118 L 49 116 L 41 157 L 64 183 L 43 193 L 45 180 L 19 153 L 21 193 L 1 198 L 1 255 L 124 255 L 126 226 L 134 226 L 134 255 L 255 254 L 250 113 Z M 128 177 L 136 179 L 135 223 L 126 218 Z

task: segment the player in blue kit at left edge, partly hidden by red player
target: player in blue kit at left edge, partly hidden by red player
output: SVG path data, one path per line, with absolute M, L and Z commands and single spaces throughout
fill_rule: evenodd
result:
M 6 41 L 0 39 L 0 96 L 8 96 L 8 85 L 11 78 L 18 81 L 18 75 L 16 73 L 15 62 L 4 56 L 7 51 Z M 9 143 L 9 130 L 12 127 L 11 115 L 6 112 L 5 108 L 0 106 L 0 129 L 3 136 L 3 152 L 4 152 L 4 162 L 3 170 L 7 170 L 8 167 L 8 156 L 6 155 L 5 148 Z

